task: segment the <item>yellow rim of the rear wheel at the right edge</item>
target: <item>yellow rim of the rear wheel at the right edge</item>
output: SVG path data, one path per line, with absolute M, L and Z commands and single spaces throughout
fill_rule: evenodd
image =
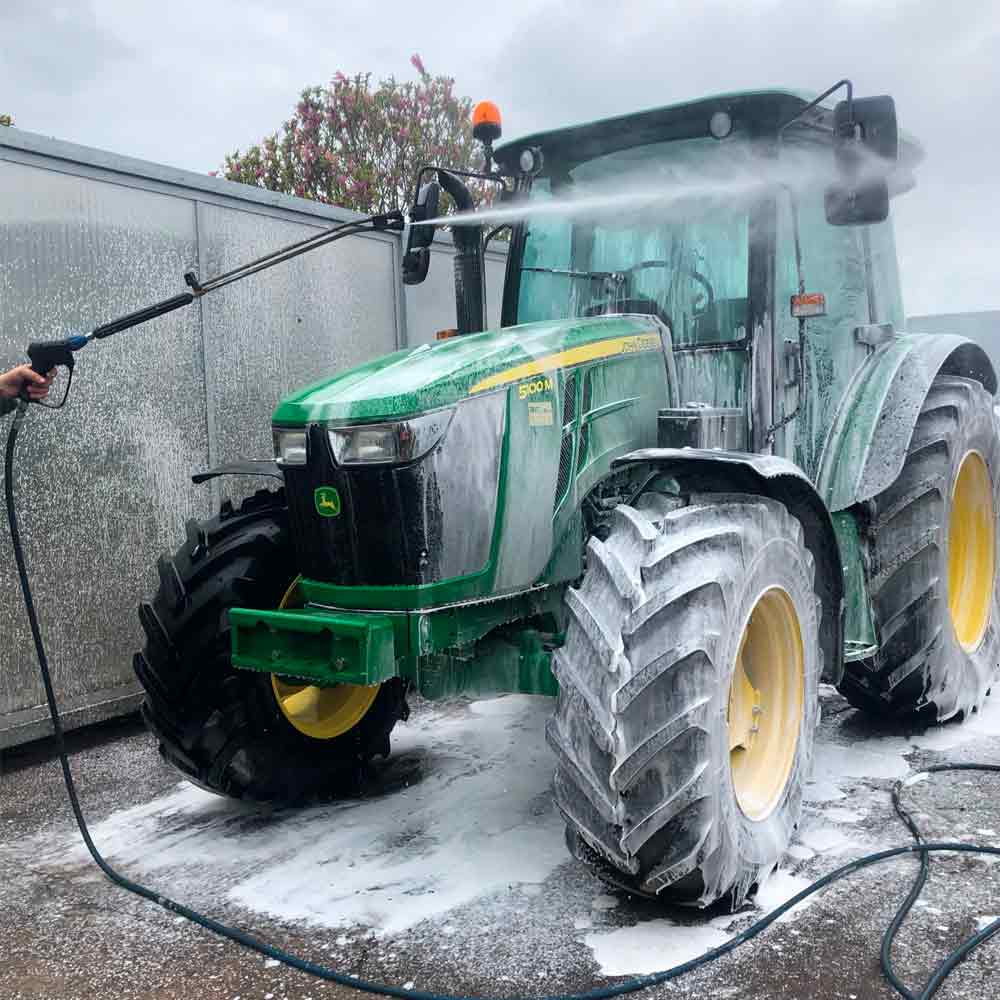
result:
M 983 456 L 970 451 L 958 468 L 948 522 L 948 610 L 963 649 L 983 641 L 995 568 L 993 484 Z

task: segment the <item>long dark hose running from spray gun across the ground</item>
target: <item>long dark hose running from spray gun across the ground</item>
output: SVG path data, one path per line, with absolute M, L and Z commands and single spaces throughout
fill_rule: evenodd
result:
M 21 534 L 17 525 L 17 511 L 14 505 L 14 448 L 17 442 L 18 431 L 20 430 L 21 423 L 24 420 L 26 409 L 27 404 L 22 401 L 18 406 L 17 413 L 14 416 L 14 420 L 10 428 L 10 433 L 7 436 L 7 448 L 4 456 L 4 495 L 7 501 L 7 521 L 10 525 L 10 537 L 14 547 L 14 559 L 17 562 L 17 575 L 21 584 L 21 593 L 24 595 L 24 606 L 28 614 L 28 622 L 31 625 L 31 637 L 35 643 L 35 653 L 38 656 L 38 666 L 42 674 L 42 683 L 45 686 L 45 700 L 48 703 L 49 714 L 52 717 L 52 729 L 55 734 L 56 749 L 59 753 L 59 762 L 62 765 L 63 781 L 66 784 L 66 794 L 69 797 L 70 806 L 73 809 L 73 816 L 76 818 L 76 825 L 80 830 L 80 836 L 83 838 L 83 842 L 87 845 L 87 850 L 90 852 L 90 856 L 94 859 L 95 864 L 115 885 L 120 888 L 135 893 L 137 896 L 142 896 L 143 899 L 148 899 L 150 902 L 156 903 L 158 906 L 162 906 L 165 910 L 184 917 L 192 923 L 197 924 L 199 927 L 204 927 L 206 930 L 210 930 L 213 933 L 218 934 L 220 937 L 234 941 L 236 944 L 242 945 L 244 948 L 256 951 L 260 955 L 275 959 L 290 968 L 298 969 L 300 972 L 308 973 L 309 975 L 315 976 L 319 979 L 339 983 L 342 986 L 349 986 L 365 993 L 377 993 L 382 996 L 399 997 L 400 1000 L 481 1000 L 481 998 L 455 996 L 447 993 L 441 994 L 421 990 L 407 990 L 399 986 L 390 986 L 386 983 L 375 983 L 365 979 L 355 979 L 352 976 L 345 975 L 342 972 L 337 972 L 335 969 L 328 968 L 325 965 L 319 965 L 316 962 L 310 962 L 308 959 L 300 958 L 297 955 L 293 955 L 281 948 L 268 944 L 266 941 L 262 941 L 259 938 L 254 937 L 252 934 L 248 934 L 246 931 L 241 931 L 235 927 L 229 927 L 218 920 L 214 920 L 212 917 L 205 916 L 197 910 L 192 910 L 190 907 L 184 906 L 182 903 L 177 903 L 169 897 L 156 892 L 154 889 L 147 888 L 146 886 L 140 885 L 138 882 L 133 882 L 131 879 L 119 874 L 114 868 L 111 867 L 111 865 L 108 864 L 107 861 L 104 860 L 90 836 L 90 831 L 87 828 L 87 821 L 84 818 L 83 810 L 80 807 L 80 800 L 77 796 L 76 785 L 73 781 L 73 774 L 70 770 L 69 757 L 66 753 L 66 741 L 63 734 L 62 720 L 59 716 L 59 707 L 56 704 L 55 693 L 52 689 L 52 677 L 49 672 L 48 658 L 45 655 L 45 645 L 42 642 L 42 634 L 38 626 L 38 616 L 35 613 L 35 603 L 31 596 L 31 584 L 28 580 L 28 570 L 25 565 L 24 550 L 21 545 Z M 1000 771 L 1000 766 L 991 764 L 941 764 L 935 767 L 926 768 L 926 770 Z M 907 854 L 918 855 L 921 859 L 921 867 L 917 881 L 919 882 L 919 887 L 922 888 L 927 877 L 927 857 L 930 854 L 936 854 L 939 852 L 955 852 L 963 854 L 989 854 L 1000 857 L 1000 847 L 976 846 L 972 844 L 948 842 L 922 842 L 920 839 L 921 835 L 916 827 L 916 824 L 913 823 L 912 819 L 910 819 L 908 814 L 905 813 L 905 810 L 903 810 L 899 802 L 898 793 L 901 787 L 902 783 L 897 783 L 896 788 L 893 789 L 893 804 L 896 806 L 897 812 L 899 812 L 903 821 L 907 824 L 910 832 L 916 838 L 915 843 L 909 844 L 905 847 L 892 847 L 884 851 L 877 851 L 874 854 L 868 854 L 864 857 L 857 858 L 854 861 L 850 861 L 846 865 L 841 865 L 840 868 L 837 868 L 835 871 L 817 879 L 812 885 L 807 886 L 801 892 L 796 893 L 787 902 L 782 903 L 781 906 L 752 923 L 740 934 L 737 934 L 736 937 L 731 938 L 729 941 L 719 945 L 717 948 L 713 948 L 711 951 L 707 951 L 703 955 L 699 955 L 697 958 L 693 958 L 690 961 L 682 962 L 680 965 L 675 965 L 670 969 L 664 969 L 662 972 L 654 972 L 645 976 L 636 976 L 632 979 L 627 979 L 612 986 L 598 987 L 584 993 L 553 994 L 546 997 L 540 997 L 538 1000 L 608 1000 L 610 997 L 622 996 L 626 993 L 635 993 L 638 990 L 645 989 L 649 986 L 665 983 L 672 979 L 679 979 L 681 976 L 686 975 L 689 972 L 693 972 L 695 969 L 707 965 L 709 962 L 713 962 L 716 959 L 721 958 L 723 955 L 729 954 L 731 951 L 735 951 L 738 947 L 740 947 L 740 945 L 745 944 L 752 938 L 755 938 L 763 930 L 773 924 L 774 921 L 780 916 L 787 913 L 793 906 L 797 906 L 804 899 L 813 895 L 813 893 L 819 892 L 820 889 L 831 885 L 839 879 L 846 878 L 848 875 L 853 875 L 855 872 L 861 871 L 864 868 L 869 868 L 872 865 L 880 864 L 881 862 L 888 861 L 892 858 L 902 857 Z M 914 886 L 916 888 L 917 883 L 914 883 Z M 916 889 L 916 892 L 919 893 L 919 888 Z M 893 937 L 901 926 L 915 899 L 916 895 L 914 889 L 911 889 L 910 893 L 907 895 L 906 901 L 903 906 L 900 907 L 899 912 L 897 912 L 896 917 L 893 919 L 889 930 L 886 931 L 882 944 L 882 964 L 887 977 L 891 976 L 890 982 L 893 987 L 906 997 L 907 1000 L 927 1000 L 927 998 L 931 997 L 937 991 L 941 983 L 944 982 L 945 977 L 951 972 L 955 965 L 958 964 L 958 962 L 960 962 L 974 948 L 982 944 L 983 941 L 988 940 L 1000 931 L 1000 920 L 990 924 L 978 934 L 970 937 L 961 945 L 961 947 L 956 948 L 935 970 L 934 975 L 928 981 L 924 991 L 918 995 L 914 995 L 907 990 L 907 988 L 899 981 L 898 977 L 896 977 L 895 972 L 892 971 L 892 963 L 891 958 L 889 957 L 889 952 L 892 948 Z

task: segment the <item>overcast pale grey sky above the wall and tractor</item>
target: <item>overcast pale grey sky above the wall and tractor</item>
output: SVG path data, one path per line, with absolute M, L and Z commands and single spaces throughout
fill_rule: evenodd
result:
M 338 69 L 409 77 L 413 52 L 497 101 L 507 137 L 842 76 L 892 94 L 927 150 L 894 209 L 907 312 L 1000 308 L 995 0 L 0 0 L 0 113 L 208 171 L 274 131 L 304 86 Z

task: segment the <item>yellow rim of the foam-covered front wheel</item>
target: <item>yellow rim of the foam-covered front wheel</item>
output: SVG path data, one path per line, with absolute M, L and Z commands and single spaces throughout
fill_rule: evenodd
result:
M 788 783 L 802 725 L 804 657 L 795 605 L 781 587 L 750 612 L 729 687 L 729 767 L 736 801 L 755 821 L 771 814 Z

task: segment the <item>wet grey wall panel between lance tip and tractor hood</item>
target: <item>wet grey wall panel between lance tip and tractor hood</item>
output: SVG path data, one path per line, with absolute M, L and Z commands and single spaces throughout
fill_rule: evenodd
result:
M 228 271 L 312 231 L 199 205 L 200 273 Z M 397 254 L 398 238 L 351 237 L 202 300 L 213 462 L 270 458 L 271 413 L 283 395 L 396 350 Z M 225 490 L 235 496 L 238 483 Z

